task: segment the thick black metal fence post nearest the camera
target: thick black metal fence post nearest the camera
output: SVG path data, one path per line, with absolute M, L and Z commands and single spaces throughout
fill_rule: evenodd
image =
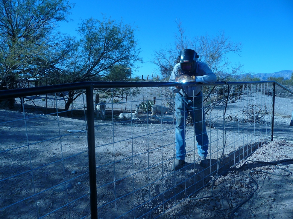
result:
M 94 93 L 93 87 L 86 88 L 86 114 L 87 114 L 87 146 L 89 149 L 89 198 L 91 219 L 98 219 L 97 182 L 95 160 L 95 123 L 94 123 Z

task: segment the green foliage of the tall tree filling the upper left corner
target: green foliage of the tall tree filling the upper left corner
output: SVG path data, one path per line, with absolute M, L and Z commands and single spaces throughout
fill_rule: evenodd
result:
M 68 36 L 55 29 L 57 22 L 67 20 L 71 7 L 66 0 L 0 2 L 1 86 L 16 88 L 18 80 L 18 88 L 22 88 L 27 79 L 57 69 L 71 49 Z

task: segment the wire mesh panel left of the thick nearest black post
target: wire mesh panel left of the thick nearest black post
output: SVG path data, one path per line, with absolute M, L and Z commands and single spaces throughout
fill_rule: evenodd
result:
M 1 111 L 1 218 L 90 217 L 85 119 L 64 117 L 57 101 L 44 114 L 43 103 L 18 98 L 17 111 Z

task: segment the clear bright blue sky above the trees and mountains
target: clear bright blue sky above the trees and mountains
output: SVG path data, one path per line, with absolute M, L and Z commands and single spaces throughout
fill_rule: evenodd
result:
M 233 42 L 242 43 L 239 55 L 228 55 L 232 63 L 243 64 L 248 73 L 274 73 L 293 70 L 293 1 L 98 1 L 70 0 L 75 3 L 70 18 L 62 24 L 62 32 L 72 36 L 80 18 L 107 18 L 137 27 L 136 39 L 144 62 L 134 75 L 150 75 L 156 69 L 149 63 L 154 51 L 174 42 L 177 21 L 181 21 L 186 34 L 215 36 L 224 31 Z

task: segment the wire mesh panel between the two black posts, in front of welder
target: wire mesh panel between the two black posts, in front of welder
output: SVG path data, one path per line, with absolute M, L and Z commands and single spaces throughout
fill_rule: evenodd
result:
M 98 200 L 103 202 L 98 207 L 101 218 L 157 217 L 209 185 L 215 175 L 247 158 L 270 138 L 272 97 L 267 92 L 271 92 L 271 84 L 233 85 L 230 93 L 227 86 L 207 87 L 203 99 L 210 165 L 206 169 L 199 165 L 191 123 L 186 126 L 185 166 L 181 171 L 173 171 L 176 117 L 170 104 L 173 96 L 163 95 L 162 90 L 142 89 L 140 95 L 115 104 L 104 99 L 108 102 L 106 120 L 95 121 L 99 133 L 96 137 L 101 142 L 99 145 L 96 141 L 96 147 L 97 154 L 107 153 L 98 155 L 97 178 L 101 178 L 98 187 L 112 189 L 112 199 L 98 192 Z M 151 116 L 154 100 L 169 111 Z M 125 110 L 119 104 L 129 108 Z M 130 113 L 135 113 L 137 104 L 144 105 L 133 118 Z M 124 117 L 119 117 L 121 113 L 125 113 Z

